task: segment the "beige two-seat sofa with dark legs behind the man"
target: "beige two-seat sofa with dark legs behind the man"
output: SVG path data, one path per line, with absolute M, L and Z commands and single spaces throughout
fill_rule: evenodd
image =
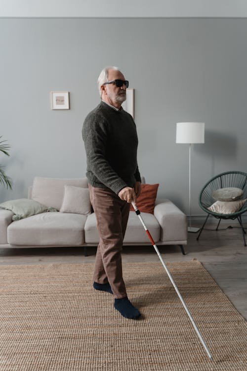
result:
M 65 199 L 67 197 L 65 188 L 69 189 L 68 199 Z M 84 202 L 82 207 L 85 206 L 83 214 L 77 210 L 79 199 L 77 191 L 84 192 L 83 197 L 80 197 Z M 33 185 L 29 187 L 28 198 L 47 207 L 53 207 L 59 212 L 43 212 L 12 221 L 13 212 L 0 209 L 0 247 L 82 246 L 86 254 L 86 247 L 98 244 L 96 219 L 91 210 L 86 178 L 36 177 Z M 73 210 L 73 203 L 76 212 Z M 170 200 L 156 200 L 154 214 L 141 213 L 141 216 L 157 245 L 179 245 L 184 254 L 183 245 L 187 244 L 186 216 Z M 131 211 L 124 245 L 150 244 L 139 218 Z

